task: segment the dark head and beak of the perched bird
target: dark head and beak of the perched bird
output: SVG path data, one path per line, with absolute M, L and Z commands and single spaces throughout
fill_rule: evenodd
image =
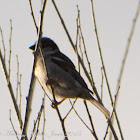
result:
M 36 43 L 35 43 L 36 44 Z M 35 51 L 35 44 L 29 47 L 29 49 Z M 47 37 L 41 38 L 40 47 L 43 52 L 52 52 L 52 51 L 59 51 L 59 48 L 55 44 L 53 40 Z

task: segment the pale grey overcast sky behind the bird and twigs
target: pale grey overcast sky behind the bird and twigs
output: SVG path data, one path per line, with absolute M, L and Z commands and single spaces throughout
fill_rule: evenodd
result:
M 96 16 L 96 24 L 102 55 L 105 63 L 106 73 L 112 93 L 112 97 L 116 94 L 116 87 L 122 60 L 124 58 L 125 49 L 130 36 L 134 17 L 138 7 L 138 0 L 94 0 L 94 10 Z M 76 19 L 77 19 L 77 5 L 80 9 L 82 32 L 91 63 L 95 86 L 101 93 L 101 60 L 98 51 L 98 45 L 95 35 L 95 27 L 92 18 L 92 10 L 90 0 L 77 1 L 56 1 L 56 5 L 63 17 L 67 29 L 72 37 L 73 42 L 76 42 Z M 37 24 L 40 19 L 40 1 L 33 1 L 33 10 Z M 0 27 L 2 28 L 4 41 L 6 46 L 6 62 L 8 68 L 9 60 L 9 38 L 10 38 L 10 20 L 12 20 L 13 34 L 12 34 L 12 59 L 11 59 L 11 82 L 13 90 L 16 92 L 17 84 L 17 60 L 19 60 L 19 71 L 22 74 L 22 116 L 24 119 L 26 108 L 26 97 L 28 95 L 29 84 L 31 79 L 31 72 L 33 66 L 33 55 L 28 49 L 37 40 L 36 29 L 31 16 L 30 6 L 28 1 L 5 0 L 0 2 Z M 43 36 L 50 37 L 59 46 L 60 50 L 66 54 L 75 64 L 78 69 L 77 57 L 71 47 L 67 35 L 62 27 L 61 21 L 54 9 L 50 0 L 47 2 Z M 140 85 L 140 17 L 138 18 L 133 39 L 131 42 L 128 58 L 126 61 L 124 74 L 120 86 L 119 99 L 117 104 L 117 114 L 121 124 L 124 139 L 132 140 L 140 137 L 140 111 L 139 111 L 139 85 Z M 2 38 L 0 36 L 0 49 L 3 52 Z M 87 66 L 87 65 L 86 65 Z M 84 73 L 82 77 L 88 83 Z M 38 83 L 36 83 L 35 93 L 32 104 L 32 114 L 29 128 L 29 135 L 32 132 L 33 120 L 36 119 L 37 113 L 40 109 L 44 93 Z M 109 99 L 106 82 L 103 83 L 103 102 L 106 108 L 111 112 L 111 102 Z M 16 113 L 14 111 L 13 103 L 7 88 L 4 72 L 0 62 L 0 138 L 1 139 L 16 139 L 11 123 L 9 121 L 9 110 L 11 109 L 11 117 L 20 135 L 19 125 L 17 123 Z M 50 106 L 50 101 L 46 98 L 46 135 L 50 140 L 59 140 L 62 138 L 61 124 L 57 113 Z M 102 140 L 106 131 L 107 122 L 104 116 L 90 103 L 88 103 L 90 112 L 92 114 L 93 122 L 96 128 L 96 133 L 99 140 Z M 88 117 L 85 111 L 85 106 L 82 100 L 78 100 L 75 105 L 76 110 L 80 116 L 86 121 L 90 127 Z M 68 101 L 60 105 L 62 116 L 65 116 L 70 109 Z M 94 139 L 86 127 L 81 123 L 74 111 L 71 112 L 66 122 L 66 129 L 69 132 L 69 139 Z M 120 139 L 118 128 L 114 126 L 117 135 Z M 41 131 L 40 131 L 41 132 Z M 41 135 L 39 136 L 41 139 Z M 109 135 L 107 137 L 109 139 Z

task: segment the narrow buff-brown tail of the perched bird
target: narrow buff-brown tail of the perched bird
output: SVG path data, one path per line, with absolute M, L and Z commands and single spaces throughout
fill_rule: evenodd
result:
M 89 101 L 105 115 L 106 119 L 110 118 L 110 112 L 102 104 L 100 104 L 94 98 L 90 99 Z

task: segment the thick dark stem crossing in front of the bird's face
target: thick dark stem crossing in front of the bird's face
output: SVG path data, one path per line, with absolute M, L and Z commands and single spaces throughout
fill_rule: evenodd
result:
M 36 43 L 36 46 L 37 46 L 36 47 L 36 52 L 34 53 L 35 59 L 34 59 L 30 89 L 29 89 L 29 93 L 28 93 L 28 97 L 27 97 L 25 122 L 24 122 L 23 131 L 22 131 L 22 135 L 25 136 L 25 137 L 22 137 L 21 140 L 23 140 L 24 138 L 25 138 L 25 140 L 28 140 L 28 138 L 27 138 L 27 128 L 28 128 L 28 122 L 29 122 L 30 113 L 31 113 L 31 104 L 32 104 L 33 90 L 34 90 L 34 85 L 35 85 L 34 68 L 35 68 L 35 65 L 36 65 L 36 57 L 39 53 L 38 50 L 40 48 L 38 46 L 40 46 L 40 40 L 41 40 L 41 37 L 42 37 L 43 19 L 44 19 L 44 12 L 45 12 L 46 3 L 47 3 L 47 0 L 44 0 L 42 10 L 41 10 L 40 29 L 39 29 L 39 32 L 38 32 L 39 37 L 38 37 L 38 42 Z

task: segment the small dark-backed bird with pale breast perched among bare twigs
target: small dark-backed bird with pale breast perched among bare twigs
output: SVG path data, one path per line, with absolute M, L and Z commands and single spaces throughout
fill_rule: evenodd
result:
M 34 73 L 43 90 L 52 95 L 52 87 L 55 98 L 62 101 L 69 98 L 87 100 L 109 119 L 110 112 L 91 95 L 93 92 L 57 44 L 48 37 L 42 37 L 39 47 L 41 52 L 37 56 Z M 29 48 L 35 51 L 35 44 Z

